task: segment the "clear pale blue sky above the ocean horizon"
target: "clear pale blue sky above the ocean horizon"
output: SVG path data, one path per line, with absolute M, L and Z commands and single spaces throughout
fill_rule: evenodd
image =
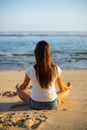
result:
M 87 31 L 87 0 L 0 0 L 0 31 Z

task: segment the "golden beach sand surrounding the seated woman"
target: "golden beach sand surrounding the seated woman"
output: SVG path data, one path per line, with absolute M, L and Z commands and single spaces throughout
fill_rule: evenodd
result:
M 15 94 L 24 71 L 0 71 L 0 130 L 87 130 L 87 70 L 62 75 L 73 86 L 68 99 L 57 109 L 38 111 L 29 110 Z

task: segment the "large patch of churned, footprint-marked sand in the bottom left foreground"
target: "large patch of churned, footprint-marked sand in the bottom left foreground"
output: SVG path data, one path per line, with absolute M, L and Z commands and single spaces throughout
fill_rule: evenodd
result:
M 35 115 L 29 112 L 11 112 L 0 114 L 0 130 L 9 129 L 11 127 L 22 127 L 24 129 L 37 129 L 43 122 L 47 120 L 45 115 Z

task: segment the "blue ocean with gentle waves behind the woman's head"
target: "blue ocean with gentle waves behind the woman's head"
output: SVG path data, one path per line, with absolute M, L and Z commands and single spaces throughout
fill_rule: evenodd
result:
M 0 32 L 0 70 L 35 64 L 34 49 L 46 40 L 61 69 L 87 69 L 87 32 Z

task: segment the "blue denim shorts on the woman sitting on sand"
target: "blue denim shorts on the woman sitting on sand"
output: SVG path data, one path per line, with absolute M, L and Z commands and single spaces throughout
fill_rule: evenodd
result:
M 29 108 L 34 110 L 51 110 L 58 107 L 58 99 L 49 102 L 39 102 L 34 101 L 32 98 L 29 98 Z

